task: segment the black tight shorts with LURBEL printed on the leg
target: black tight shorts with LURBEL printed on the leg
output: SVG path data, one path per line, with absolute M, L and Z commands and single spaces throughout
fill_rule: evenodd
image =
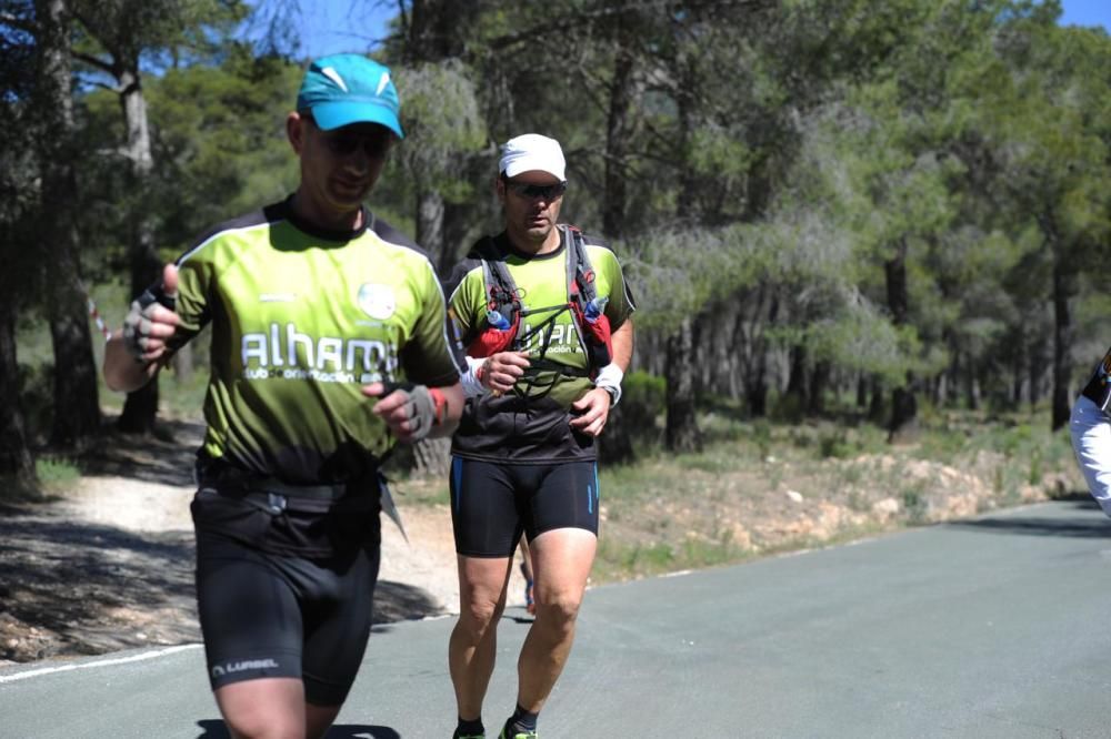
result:
M 251 535 L 211 525 L 216 518 L 227 524 L 237 508 Z M 303 680 L 309 702 L 342 703 L 370 638 L 377 537 L 326 557 L 268 551 L 254 538 L 267 538 L 260 529 L 270 514 L 210 488 L 198 492 L 192 509 L 197 605 L 212 689 L 290 677 Z

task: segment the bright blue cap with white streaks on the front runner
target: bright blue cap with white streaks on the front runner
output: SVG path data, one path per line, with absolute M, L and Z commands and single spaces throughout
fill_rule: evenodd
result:
M 312 62 L 297 93 L 297 109 L 309 111 L 324 131 L 351 123 L 378 123 L 403 139 L 401 102 L 390 70 L 361 54 L 333 54 Z

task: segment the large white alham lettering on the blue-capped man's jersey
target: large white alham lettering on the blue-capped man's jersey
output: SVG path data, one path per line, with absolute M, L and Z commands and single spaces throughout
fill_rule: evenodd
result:
M 392 343 L 333 336 L 313 338 L 299 333 L 292 323 L 284 326 L 272 323 L 268 333 L 243 334 L 241 354 L 244 373 L 252 367 L 288 367 L 337 374 L 357 371 L 390 374 L 398 366 L 397 347 Z M 266 376 L 282 374 L 270 372 Z

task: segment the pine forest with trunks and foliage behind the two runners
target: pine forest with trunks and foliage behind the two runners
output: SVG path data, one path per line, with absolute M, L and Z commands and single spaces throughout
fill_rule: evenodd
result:
M 199 234 L 296 186 L 309 4 L 0 0 L 4 495 L 199 417 L 206 341 L 117 397 L 91 317 L 118 327 Z M 614 244 L 640 307 L 607 462 L 991 447 L 998 493 L 1015 467 L 1041 484 L 1111 343 L 1111 38 L 1061 12 L 352 0 L 348 50 L 393 69 L 408 133 L 370 204 L 447 270 L 499 227 L 497 142 L 563 143 L 563 214 Z

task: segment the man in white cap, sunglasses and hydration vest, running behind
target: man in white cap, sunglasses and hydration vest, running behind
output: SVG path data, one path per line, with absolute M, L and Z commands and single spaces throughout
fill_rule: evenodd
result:
M 448 281 L 469 370 L 452 442 L 451 514 L 460 616 L 449 664 L 457 739 L 486 737 L 513 550 L 532 555 L 536 620 L 518 660 L 517 706 L 500 737 L 537 736 L 537 717 L 574 640 L 598 543 L 594 438 L 632 356 L 633 303 L 613 252 L 559 223 L 568 188 L 559 142 L 502 146 L 494 188 L 506 229 L 474 244 Z

